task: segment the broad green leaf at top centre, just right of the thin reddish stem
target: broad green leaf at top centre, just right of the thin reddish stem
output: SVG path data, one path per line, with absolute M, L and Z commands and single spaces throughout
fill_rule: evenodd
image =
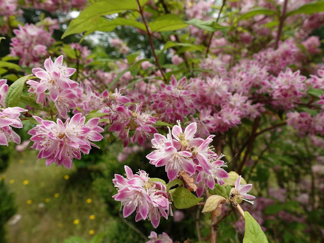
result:
M 152 32 L 172 31 L 187 26 L 188 24 L 184 23 L 179 16 L 173 14 L 166 14 L 157 17 L 153 22 L 148 23 L 148 27 Z

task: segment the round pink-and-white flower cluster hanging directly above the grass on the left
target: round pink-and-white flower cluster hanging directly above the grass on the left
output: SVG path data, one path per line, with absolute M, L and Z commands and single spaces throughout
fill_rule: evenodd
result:
M 46 158 L 46 165 L 57 163 L 70 169 L 73 158 L 80 159 L 81 152 L 89 154 L 91 146 L 96 146 L 91 141 L 100 141 L 103 129 L 98 125 L 100 118 L 92 118 L 85 124 L 86 117 L 81 113 L 67 118 L 65 125 L 61 119 L 57 122 L 43 120 L 33 116 L 39 125 L 29 130 L 28 134 L 34 142 L 33 148 L 40 150 L 37 158 Z M 98 147 L 98 146 L 96 146 Z

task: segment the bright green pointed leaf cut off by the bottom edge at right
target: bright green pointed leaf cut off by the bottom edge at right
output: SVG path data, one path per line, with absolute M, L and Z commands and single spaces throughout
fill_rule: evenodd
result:
M 258 222 L 245 211 L 245 234 L 243 243 L 269 243 Z

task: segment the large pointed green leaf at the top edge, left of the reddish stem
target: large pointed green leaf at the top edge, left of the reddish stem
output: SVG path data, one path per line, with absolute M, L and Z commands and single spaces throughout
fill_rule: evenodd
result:
M 104 19 L 100 16 L 137 9 L 137 3 L 134 0 L 102 0 L 95 2 L 84 9 L 76 19 L 70 22 L 69 26 L 63 33 L 62 38 L 70 34 L 93 30 L 100 27 L 104 23 Z

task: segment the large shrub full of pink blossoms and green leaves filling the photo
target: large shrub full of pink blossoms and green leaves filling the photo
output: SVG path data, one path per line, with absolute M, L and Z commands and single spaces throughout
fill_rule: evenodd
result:
M 175 209 L 196 215 L 185 242 L 320 242 L 324 3 L 295 2 L 0 0 L 9 53 L 0 60 L 0 145 L 27 133 L 38 159 L 67 169 L 96 142 L 123 146 L 116 161 L 133 158 L 145 171 L 133 174 L 134 161 L 108 166 L 126 177 L 103 173 L 114 185 L 107 202 L 120 201 L 131 225 L 134 212 L 154 228 Z M 32 9 L 81 12 L 29 23 Z M 95 31 L 113 33 L 98 45 Z M 161 230 L 147 242 L 178 240 Z

